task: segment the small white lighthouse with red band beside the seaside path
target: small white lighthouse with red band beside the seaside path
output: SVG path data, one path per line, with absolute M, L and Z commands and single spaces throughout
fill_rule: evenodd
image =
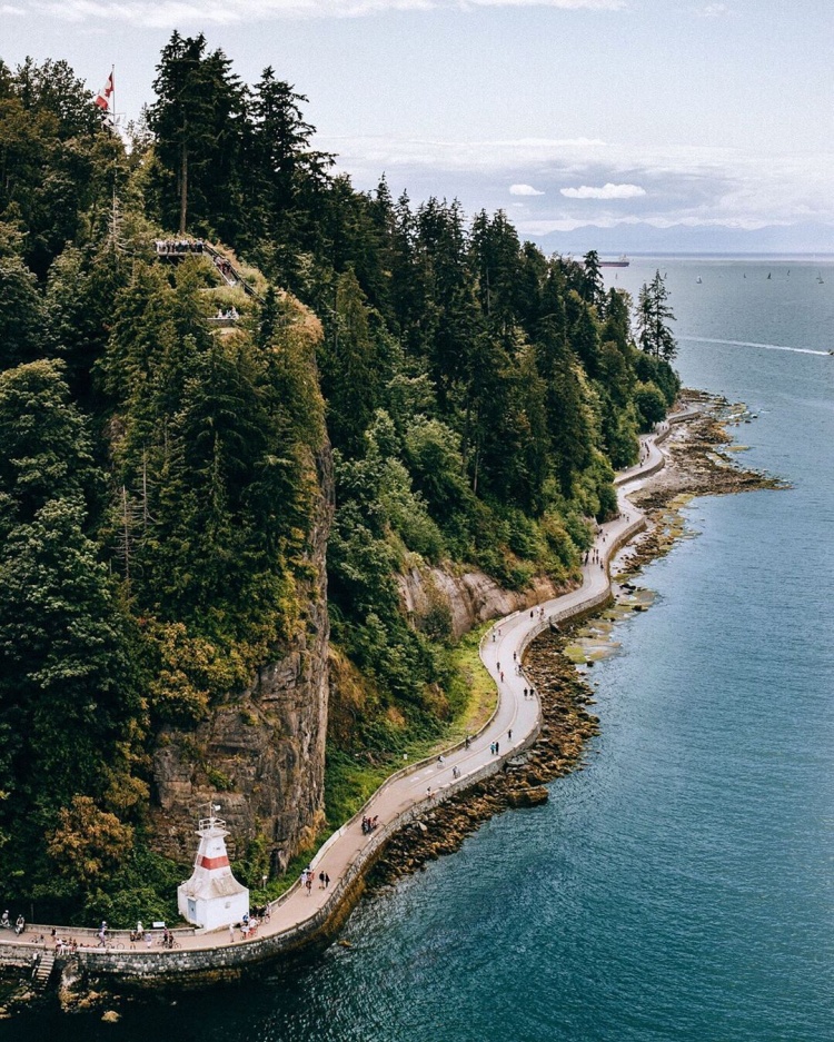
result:
M 199 821 L 200 846 L 191 879 L 177 887 L 180 915 L 203 930 L 220 930 L 239 923 L 249 914 L 249 891 L 231 874 L 226 853 L 226 822 L 215 817 L 217 804 L 209 804 L 209 816 Z

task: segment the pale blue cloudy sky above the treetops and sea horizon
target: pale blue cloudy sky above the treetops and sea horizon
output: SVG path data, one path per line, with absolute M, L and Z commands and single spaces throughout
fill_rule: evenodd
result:
M 834 0 L 0 0 L 126 119 L 173 29 L 271 64 L 359 189 L 559 252 L 834 252 Z

